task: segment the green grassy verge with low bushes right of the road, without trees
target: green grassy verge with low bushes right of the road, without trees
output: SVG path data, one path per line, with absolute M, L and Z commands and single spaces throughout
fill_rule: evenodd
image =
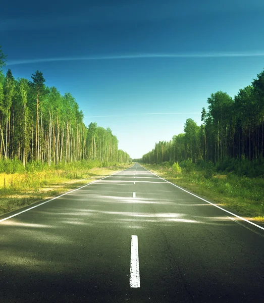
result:
M 143 166 L 176 185 L 214 200 L 218 205 L 233 209 L 242 216 L 264 222 L 263 178 L 240 177 L 234 173 L 206 176 L 206 172 L 195 166 L 183 167 L 181 173 L 173 172 L 168 165 Z

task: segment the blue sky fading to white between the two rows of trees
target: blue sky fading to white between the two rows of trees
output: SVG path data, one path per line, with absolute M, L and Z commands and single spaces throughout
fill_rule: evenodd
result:
M 37 69 L 71 92 L 84 122 L 110 127 L 132 158 L 198 124 L 264 68 L 263 1 L 12 1 L 0 45 L 15 77 Z

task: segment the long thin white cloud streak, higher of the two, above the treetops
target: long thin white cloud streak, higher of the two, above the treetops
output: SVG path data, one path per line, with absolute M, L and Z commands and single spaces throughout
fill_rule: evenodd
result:
M 87 56 L 87 57 L 57 57 L 39 59 L 10 60 L 7 65 L 59 62 L 59 61 L 93 61 L 93 60 L 120 60 L 143 58 L 221 58 L 221 57 L 264 57 L 264 52 L 218 52 L 218 53 L 186 53 L 186 54 L 129 54 L 114 56 Z

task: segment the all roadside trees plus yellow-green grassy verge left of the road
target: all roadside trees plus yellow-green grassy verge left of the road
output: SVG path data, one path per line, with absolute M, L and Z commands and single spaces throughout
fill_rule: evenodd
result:
M 128 167 L 110 128 L 84 124 L 70 92 L 40 71 L 15 79 L 0 46 L 0 215 Z

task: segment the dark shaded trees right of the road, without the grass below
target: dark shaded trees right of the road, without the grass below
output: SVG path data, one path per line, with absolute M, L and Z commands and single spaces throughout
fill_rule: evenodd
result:
M 226 92 L 212 93 L 208 111 L 201 112 L 203 124 L 187 119 L 184 133 L 169 142 L 160 141 L 145 154 L 143 163 L 162 164 L 191 159 L 220 163 L 224 159 L 260 161 L 264 139 L 264 71 L 251 85 L 240 89 L 234 99 Z

